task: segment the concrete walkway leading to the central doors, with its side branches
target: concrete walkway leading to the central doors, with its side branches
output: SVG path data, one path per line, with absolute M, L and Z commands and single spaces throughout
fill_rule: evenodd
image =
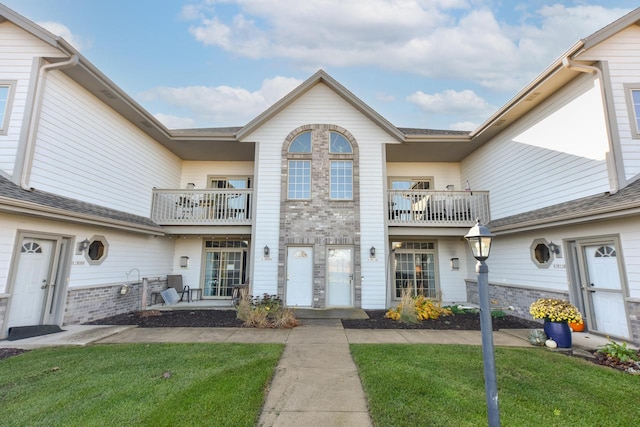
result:
M 0 347 L 38 348 L 90 343 L 237 342 L 282 343 L 263 411 L 261 427 L 371 426 L 367 402 L 349 344 L 481 345 L 480 331 L 343 329 L 339 319 L 302 319 L 293 329 L 137 328 L 133 326 L 64 326 L 64 331 Z M 496 346 L 529 347 L 528 329 L 494 332 Z M 574 333 L 573 350 L 595 349 L 604 337 Z

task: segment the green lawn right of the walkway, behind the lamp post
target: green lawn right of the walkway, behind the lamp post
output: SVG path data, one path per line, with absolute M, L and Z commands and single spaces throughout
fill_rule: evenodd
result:
M 487 425 L 482 349 L 351 345 L 376 426 Z M 503 426 L 632 426 L 640 378 L 543 348 L 497 348 Z

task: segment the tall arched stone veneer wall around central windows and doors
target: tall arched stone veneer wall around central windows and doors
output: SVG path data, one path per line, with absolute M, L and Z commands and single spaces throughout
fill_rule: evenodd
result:
M 289 144 L 299 134 L 311 131 L 310 154 L 289 153 Z M 342 134 L 353 148 L 350 154 L 329 153 L 329 132 Z M 311 160 L 311 199 L 288 200 L 289 160 Z M 331 200 L 330 162 L 353 161 L 353 200 Z M 360 167 L 358 145 L 353 135 L 335 125 L 313 124 L 292 131 L 282 146 L 280 244 L 278 295 L 285 295 L 287 246 L 313 247 L 313 307 L 326 307 L 326 252 L 328 246 L 353 248 L 354 307 L 361 306 L 360 288 Z

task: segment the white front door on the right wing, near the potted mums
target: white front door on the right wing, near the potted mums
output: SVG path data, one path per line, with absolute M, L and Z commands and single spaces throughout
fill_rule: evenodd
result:
M 583 251 L 588 276 L 583 290 L 590 308 L 590 328 L 602 334 L 630 338 L 614 244 L 587 245 Z

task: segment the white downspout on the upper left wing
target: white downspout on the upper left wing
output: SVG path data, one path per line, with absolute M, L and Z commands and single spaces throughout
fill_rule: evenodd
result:
M 64 68 L 75 67 L 78 65 L 79 57 L 76 54 L 71 55 L 66 61 L 55 64 L 43 65 L 38 73 L 38 82 L 36 83 L 36 93 L 33 101 L 33 111 L 31 113 L 29 129 L 27 131 L 26 147 L 24 150 L 24 158 L 22 160 L 22 173 L 20 176 L 20 187 L 24 190 L 32 191 L 29 185 L 29 176 L 31 175 L 31 166 L 33 165 L 33 154 L 36 146 L 36 133 L 38 122 L 40 121 L 40 112 L 42 111 L 42 99 L 44 97 L 44 87 L 46 82 L 46 74 L 53 70 L 62 70 Z

